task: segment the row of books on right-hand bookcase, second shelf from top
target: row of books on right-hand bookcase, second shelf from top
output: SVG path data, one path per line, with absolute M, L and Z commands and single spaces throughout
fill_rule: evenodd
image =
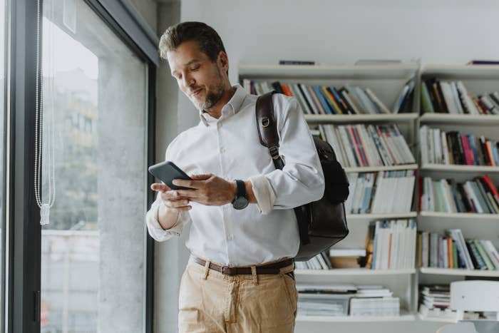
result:
M 419 128 L 421 162 L 462 165 L 499 165 L 499 142 L 483 135 L 461 135 L 456 130 Z

